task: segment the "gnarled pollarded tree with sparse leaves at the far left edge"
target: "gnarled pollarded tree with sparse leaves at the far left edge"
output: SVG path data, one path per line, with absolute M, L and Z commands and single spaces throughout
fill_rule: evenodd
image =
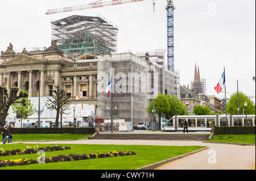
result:
M 19 95 L 17 95 L 19 92 Z M 24 90 L 20 90 L 18 87 L 11 87 L 10 95 L 8 94 L 7 86 L 0 86 L 0 128 L 5 125 L 5 119 L 8 115 L 9 108 L 14 103 L 22 103 L 26 106 L 26 101 L 22 99 L 20 102 L 18 99 L 27 98 L 28 93 Z

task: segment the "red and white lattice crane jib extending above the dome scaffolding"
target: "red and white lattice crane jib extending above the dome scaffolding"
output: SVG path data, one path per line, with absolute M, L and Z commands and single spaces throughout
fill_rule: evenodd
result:
M 52 10 L 48 10 L 46 12 L 46 14 L 49 15 L 49 14 L 57 14 L 57 13 L 61 13 L 61 12 L 71 12 L 71 11 L 79 11 L 79 10 L 86 10 L 86 9 L 94 9 L 94 8 L 98 8 L 98 7 L 122 5 L 122 4 L 126 4 L 126 3 L 140 2 L 140 1 L 146 1 L 146 0 L 112 0 L 112 1 L 106 1 L 106 2 L 96 2 L 96 3 L 90 3 L 89 5 L 52 9 Z

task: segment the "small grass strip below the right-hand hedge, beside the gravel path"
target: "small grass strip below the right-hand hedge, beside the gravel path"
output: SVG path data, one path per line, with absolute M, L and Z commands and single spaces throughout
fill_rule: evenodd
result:
M 207 141 L 238 142 L 243 144 L 255 144 L 255 134 L 217 134 L 214 139 Z

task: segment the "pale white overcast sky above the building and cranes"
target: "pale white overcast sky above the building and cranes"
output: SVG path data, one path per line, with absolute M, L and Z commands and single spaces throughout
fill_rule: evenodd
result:
M 86 5 L 97 0 L 1 0 L 0 51 L 12 43 L 14 49 L 49 47 L 51 19 L 69 15 L 100 14 L 119 27 L 118 53 L 167 49 L 166 0 L 151 0 L 98 9 L 45 15 L 49 9 Z M 103 0 L 105 2 L 108 0 Z M 180 84 L 190 85 L 195 62 L 207 81 L 207 94 L 226 70 L 226 92 L 239 90 L 255 96 L 255 0 L 175 1 L 175 69 Z M 251 98 L 255 102 L 255 98 Z

